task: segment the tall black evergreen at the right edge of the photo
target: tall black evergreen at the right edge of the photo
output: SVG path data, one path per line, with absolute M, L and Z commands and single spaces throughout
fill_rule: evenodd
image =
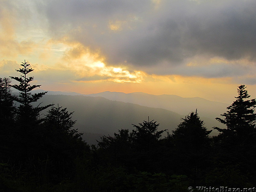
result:
M 248 177 L 250 182 L 255 184 L 256 114 L 254 108 L 256 100 L 247 100 L 250 95 L 245 88 L 245 85 L 238 86 L 236 100 L 227 107 L 228 111 L 221 115 L 224 119 L 216 118 L 227 126 L 226 129 L 214 127 L 220 132 L 216 138 L 219 144 L 217 159 L 219 162 L 228 164 L 229 167 L 236 167 L 236 172 L 239 172 L 241 177 Z M 221 166 L 220 163 L 218 165 Z M 229 182 L 233 182 L 232 179 L 226 178 Z

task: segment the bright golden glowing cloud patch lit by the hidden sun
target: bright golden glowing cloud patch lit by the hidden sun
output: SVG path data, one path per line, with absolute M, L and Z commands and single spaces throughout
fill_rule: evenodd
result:
M 146 73 L 128 70 L 125 66 L 111 66 L 104 63 L 104 57 L 99 53 L 91 53 L 89 48 L 81 44 L 73 44 L 66 50 L 59 67 L 73 71 L 77 79 L 74 81 L 113 81 L 116 83 L 141 83 Z M 97 78 L 95 78 L 97 77 Z

